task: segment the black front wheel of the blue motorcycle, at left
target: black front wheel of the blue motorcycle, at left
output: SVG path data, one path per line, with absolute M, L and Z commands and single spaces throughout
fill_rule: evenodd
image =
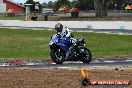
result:
M 65 54 L 61 49 L 51 49 L 50 56 L 56 64 L 62 64 L 65 61 Z

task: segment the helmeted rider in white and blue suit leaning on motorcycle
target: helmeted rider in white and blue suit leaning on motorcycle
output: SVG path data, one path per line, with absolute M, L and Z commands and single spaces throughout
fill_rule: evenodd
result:
M 67 27 L 64 27 L 61 23 L 55 25 L 55 30 L 57 35 L 62 38 L 61 47 L 65 49 L 67 46 L 67 49 L 65 49 L 67 51 L 65 59 L 68 59 L 73 54 L 73 49 L 76 46 L 76 39 L 71 34 L 70 30 Z

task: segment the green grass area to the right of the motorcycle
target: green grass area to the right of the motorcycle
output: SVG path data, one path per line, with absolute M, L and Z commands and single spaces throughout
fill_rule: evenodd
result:
M 84 36 L 94 57 L 122 56 L 132 54 L 131 35 L 112 35 L 98 33 L 78 33 Z

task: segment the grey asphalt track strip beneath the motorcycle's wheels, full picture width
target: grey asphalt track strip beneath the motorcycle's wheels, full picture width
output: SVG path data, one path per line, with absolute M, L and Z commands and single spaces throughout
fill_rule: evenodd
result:
M 55 64 L 50 62 L 30 62 L 26 64 L 1 64 L 0 68 L 10 68 L 10 67 L 28 67 L 28 68 L 80 68 L 80 67 L 99 67 L 99 66 L 132 66 L 132 60 L 126 61 L 97 61 L 90 62 L 89 64 L 84 64 L 82 62 L 64 62 L 63 64 Z

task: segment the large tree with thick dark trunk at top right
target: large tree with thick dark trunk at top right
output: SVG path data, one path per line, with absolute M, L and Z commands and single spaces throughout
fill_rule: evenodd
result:
M 96 16 L 107 16 L 109 9 L 122 10 L 131 4 L 132 0 L 94 0 Z

